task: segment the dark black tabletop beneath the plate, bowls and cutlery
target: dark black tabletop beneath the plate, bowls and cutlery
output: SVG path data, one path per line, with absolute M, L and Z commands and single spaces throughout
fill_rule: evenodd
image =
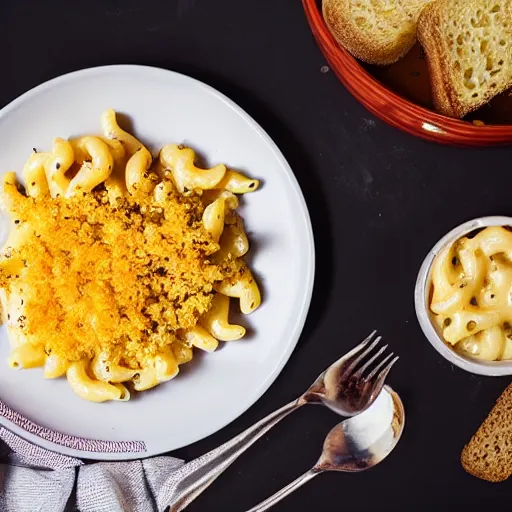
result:
M 459 463 L 509 379 L 473 376 L 447 363 L 424 338 L 413 305 L 420 263 L 446 231 L 476 216 L 512 214 L 509 149 L 442 147 L 374 118 L 324 68 L 299 0 L 3 0 L 0 48 L 0 107 L 90 66 L 146 64 L 198 78 L 267 130 L 302 186 L 317 275 L 297 349 L 247 413 L 175 455 L 197 457 L 295 398 L 375 328 L 401 356 L 389 382 L 406 407 L 402 440 L 373 470 L 321 475 L 275 510 L 510 506 L 510 483 L 482 482 Z M 255 505 L 314 464 L 337 421 L 322 408 L 298 411 L 189 510 Z

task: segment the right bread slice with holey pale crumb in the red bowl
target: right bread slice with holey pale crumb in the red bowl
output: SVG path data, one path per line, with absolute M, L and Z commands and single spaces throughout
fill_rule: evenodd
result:
M 512 87 L 512 0 L 437 0 L 418 39 L 440 113 L 463 117 Z

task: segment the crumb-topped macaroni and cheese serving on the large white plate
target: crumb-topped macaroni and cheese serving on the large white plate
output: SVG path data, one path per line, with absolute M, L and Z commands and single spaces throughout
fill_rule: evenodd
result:
M 193 347 L 242 338 L 228 321 L 261 302 L 242 257 L 249 242 L 236 194 L 257 180 L 219 164 L 198 168 L 190 148 L 157 159 L 102 115 L 102 136 L 57 138 L 23 177 L 4 177 L 12 228 L 0 258 L 11 368 L 66 375 L 95 402 L 128 400 L 174 378 Z

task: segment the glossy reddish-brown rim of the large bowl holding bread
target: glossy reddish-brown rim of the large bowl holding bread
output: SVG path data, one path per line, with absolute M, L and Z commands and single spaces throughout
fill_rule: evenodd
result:
M 488 146 L 512 143 L 512 124 L 476 126 L 469 121 L 438 114 L 398 95 L 337 43 L 318 9 L 317 0 L 302 0 L 302 5 L 313 35 L 339 80 L 382 121 L 411 135 L 442 144 Z

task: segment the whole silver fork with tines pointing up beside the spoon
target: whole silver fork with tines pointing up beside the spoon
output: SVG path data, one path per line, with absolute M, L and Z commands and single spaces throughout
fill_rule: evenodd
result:
M 285 416 L 305 404 L 323 404 L 342 416 L 355 416 L 370 407 L 398 357 L 384 357 L 387 345 L 373 331 L 362 343 L 327 368 L 299 398 L 269 414 L 258 423 L 182 466 L 166 496 L 169 512 L 178 512 L 201 494 L 227 467 Z M 171 498 L 171 499 L 169 499 Z

